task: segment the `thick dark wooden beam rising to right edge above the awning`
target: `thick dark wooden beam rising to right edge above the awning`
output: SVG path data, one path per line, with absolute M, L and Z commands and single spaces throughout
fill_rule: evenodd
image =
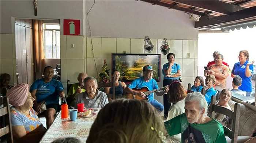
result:
M 222 15 L 217 16 L 214 18 L 205 18 L 201 17 L 198 22 L 195 22 L 195 28 L 202 28 L 202 27 L 209 27 L 209 26 L 216 26 L 220 24 L 236 22 L 238 20 L 245 20 L 249 18 L 256 19 L 256 6 L 251 8 L 246 8 L 241 11 L 233 12 L 231 15 Z

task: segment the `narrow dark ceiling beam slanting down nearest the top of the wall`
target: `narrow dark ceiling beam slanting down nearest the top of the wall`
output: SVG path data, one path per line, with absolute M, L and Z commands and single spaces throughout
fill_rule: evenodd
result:
M 141 1 L 145 1 L 147 3 L 151 3 L 151 4 L 155 4 L 155 5 L 160 5 L 160 6 L 163 6 L 163 7 L 167 7 L 167 8 L 171 8 L 171 9 L 176 9 L 176 10 L 179 10 L 179 11 L 184 11 L 184 12 L 188 12 L 188 13 L 193 13 L 193 14 L 196 14 L 196 15 L 199 15 L 199 16 L 205 16 L 207 18 L 209 17 L 212 17 L 211 15 L 207 14 L 207 13 L 203 13 L 203 12 L 199 12 L 199 11 L 193 11 L 191 9 L 188 9 L 188 8 L 182 8 L 182 7 L 178 7 L 176 5 L 171 5 L 171 4 L 167 4 L 167 3 L 162 3 L 160 1 L 157 1 L 157 0 L 141 0 Z

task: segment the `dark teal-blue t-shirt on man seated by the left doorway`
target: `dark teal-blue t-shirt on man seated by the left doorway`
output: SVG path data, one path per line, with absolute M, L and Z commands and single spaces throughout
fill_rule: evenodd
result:
M 30 87 L 30 92 L 37 89 L 35 96 L 37 97 L 37 103 L 42 101 L 48 104 L 59 104 L 59 92 L 63 91 L 63 85 L 60 81 L 52 78 L 50 82 L 45 83 L 44 78 L 36 80 Z

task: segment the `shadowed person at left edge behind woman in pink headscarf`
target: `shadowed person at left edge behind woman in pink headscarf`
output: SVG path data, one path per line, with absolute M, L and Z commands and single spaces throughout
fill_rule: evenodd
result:
M 9 82 L 11 80 L 11 76 L 10 74 L 7 73 L 3 73 L 0 76 L 0 80 L 1 80 L 1 84 L 0 84 L 0 88 L 1 88 L 1 92 L 0 92 L 0 96 L 5 96 L 7 90 L 11 89 L 13 86 L 9 85 Z

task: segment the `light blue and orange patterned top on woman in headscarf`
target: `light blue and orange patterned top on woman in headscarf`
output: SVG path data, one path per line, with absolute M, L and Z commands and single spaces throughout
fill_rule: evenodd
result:
M 12 126 L 15 125 L 23 125 L 26 133 L 29 133 L 33 130 L 35 130 L 39 125 L 41 125 L 41 122 L 39 121 L 39 118 L 35 114 L 35 111 L 33 108 L 29 109 L 29 115 L 24 115 L 20 113 L 16 108 L 11 108 L 11 121 Z

